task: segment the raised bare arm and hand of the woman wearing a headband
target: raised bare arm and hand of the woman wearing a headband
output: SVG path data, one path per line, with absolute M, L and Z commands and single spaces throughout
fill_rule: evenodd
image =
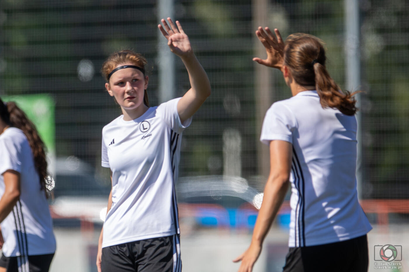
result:
M 171 18 L 162 19 L 162 25 L 158 25 L 163 36 L 168 40 L 171 52 L 182 59 L 189 74 L 191 88 L 178 102 L 178 114 L 182 123 L 189 119 L 210 96 L 210 82 L 205 69 L 193 53 L 188 36 L 184 33 L 179 21 L 175 26 Z

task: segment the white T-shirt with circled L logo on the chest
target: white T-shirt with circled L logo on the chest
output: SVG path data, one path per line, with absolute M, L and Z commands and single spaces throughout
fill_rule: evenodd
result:
M 102 166 L 112 171 L 102 247 L 179 233 L 175 182 L 182 132 L 191 123 L 180 122 L 179 99 L 102 129 Z

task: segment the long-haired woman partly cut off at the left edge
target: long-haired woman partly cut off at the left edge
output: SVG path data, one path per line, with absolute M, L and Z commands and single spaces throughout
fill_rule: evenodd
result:
M 56 242 L 47 203 L 45 145 L 14 102 L 0 99 L 0 271 L 47 272 Z

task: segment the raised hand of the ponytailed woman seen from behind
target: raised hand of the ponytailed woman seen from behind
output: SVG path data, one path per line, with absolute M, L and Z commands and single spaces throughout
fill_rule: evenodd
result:
M 280 31 L 274 29 L 274 32 L 277 38 L 274 37 L 268 27 L 265 27 L 265 31 L 262 27 L 258 27 L 256 35 L 258 40 L 264 45 L 265 51 L 267 51 L 267 58 L 265 60 L 253 58 L 253 60 L 268 67 L 281 69 L 284 63 L 284 42 L 281 38 Z

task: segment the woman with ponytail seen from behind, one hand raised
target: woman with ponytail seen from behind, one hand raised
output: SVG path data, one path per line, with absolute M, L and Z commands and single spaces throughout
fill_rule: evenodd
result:
M 235 262 L 252 271 L 291 185 L 289 252 L 284 272 L 366 272 L 371 225 L 357 197 L 357 111 L 325 67 L 322 41 L 259 27 L 267 51 L 261 65 L 279 69 L 292 97 L 268 109 L 261 142 L 270 147 L 270 175 L 249 248 Z M 347 254 L 346 254 L 347 252 Z

